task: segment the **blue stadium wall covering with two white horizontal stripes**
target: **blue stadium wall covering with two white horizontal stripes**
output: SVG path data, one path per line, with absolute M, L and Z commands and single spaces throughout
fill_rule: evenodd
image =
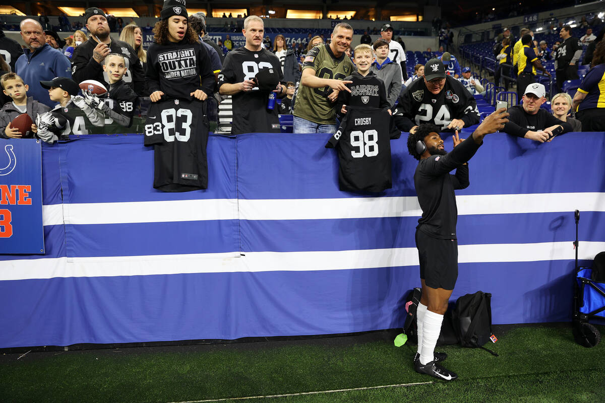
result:
M 188 193 L 152 188 L 140 135 L 43 147 L 47 254 L 0 256 L 0 347 L 402 326 L 416 160 L 393 140 L 393 189 L 341 192 L 328 138 L 211 135 L 209 188 Z M 580 258 L 605 250 L 603 163 L 583 152 L 603 149 L 603 133 L 488 136 L 457 192 L 452 298 L 491 292 L 496 324 L 569 320 L 576 208 Z

